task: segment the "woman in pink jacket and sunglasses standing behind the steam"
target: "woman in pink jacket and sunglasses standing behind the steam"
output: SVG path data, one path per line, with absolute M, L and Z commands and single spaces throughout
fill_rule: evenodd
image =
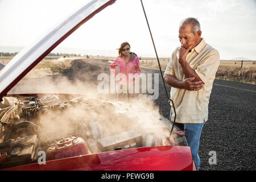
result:
M 117 93 L 123 93 L 119 96 L 126 96 L 126 101 L 128 97 L 134 96 L 134 84 L 135 78 L 141 74 L 141 65 L 139 64 L 139 58 L 134 52 L 130 52 L 130 44 L 128 42 L 123 42 L 118 48 L 118 57 L 110 65 L 110 72 L 117 77 L 117 88 L 119 89 Z M 115 67 L 119 68 L 119 73 L 115 72 Z M 126 78 L 126 79 L 125 79 Z M 129 92 L 129 85 L 133 86 L 133 93 Z M 126 88 L 125 88 L 126 87 Z M 118 99 L 117 94 L 117 99 Z M 120 99 L 120 98 L 119 98 Z

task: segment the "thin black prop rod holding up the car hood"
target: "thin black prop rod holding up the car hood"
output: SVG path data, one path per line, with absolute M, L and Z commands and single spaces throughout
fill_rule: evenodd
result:
M 160 73 L 161 73 L 161 77 L 162 77 L 162 80 L 163 80 L 164 90 L 166 91 L 166 96 L 167 96 L 167 98 L 168 98 L 168 102 L 172 102 L 172 106 L 171 106 L 171 107 L 174 108 L 174 114 L 175 114 L 175 115 L 174 115 L 174 123 L 175 123 L 175 120 L 176 120 L 176 110 L 175 110 L 175 107 L 174 107 L 174 101 L 171 100 L 171 98 L 168 96 L 168 93 L 167 93 L 166 84 L 165 84 L 165 82 L 164 82 L 163 73 L 162 73 L 160 61 L 159 61 L 159 58 L 158 58 L 158 53 L 156 52 L 154 39 L 153 39 L 153 36 L 152 36 L 152 34 L 151 34 L 150 26 L 149 26 L 149 24 L 148 24 L 147 15 L 146 15 L 146 12 L 145 12 L 145 9 L 144 9 L 142 0 L 141 0 L 141 5 L 142 5 L 142 9 L 143 9 L 143 12 L 144 12 L 146 21 L 147 21 L 148 30 L 150 31 L 151 40 L 152 40 L 152 43 L 153 43 L 153 46 L 154 46 L 154 49 L 155 49 L 156 59 L 158 60 L 158 66 L 159 66 Z M 173 125 L 172 125 L 170 137 L 171 137 L 171 134 L 172 134 L 172 130 L 174 129 L 174 123 L 173 123 Z

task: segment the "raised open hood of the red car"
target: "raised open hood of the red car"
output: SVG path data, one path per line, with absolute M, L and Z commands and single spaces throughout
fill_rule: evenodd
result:
M 38 42 L 20 51 L 6 67 L 0 71 L 0 100 L 3 96 L 6 96 L 7 92 L 34 68 L 36 64 L 63 42 L 64 39 L 95 14 L 105 9 L 105 7 L 112 5 L 115 1 L 116 0 L 93 0 L 89 2 Z

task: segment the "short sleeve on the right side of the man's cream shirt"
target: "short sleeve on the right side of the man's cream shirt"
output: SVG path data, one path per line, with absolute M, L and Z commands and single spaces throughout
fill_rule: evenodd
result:
M 215 76 L 218 66 L 220 65 L 220 55 L 218 51 L 214 49 L 209 56 L 205 57 L 202 64 L 198 65 L 195 72 L 205 83 Z

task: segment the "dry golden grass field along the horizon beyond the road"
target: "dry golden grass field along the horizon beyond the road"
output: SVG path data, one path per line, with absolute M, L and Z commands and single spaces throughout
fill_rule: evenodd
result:
M 7 64 L 13 57 L 0 57 L 0 63 Z M 114 60 L 114 57 L 90 57 L 93 59 L 109 59 L 109 63 Z M 61 70 L 70 66 L 74 59 L 86 59 L 86 57 L 45 57 L 30 73 L 28 76 L 44 76 L 57 74 Z M 168 57 L 159 58 L 160 66 L 164 71 L 168 64 Z M 159 70 L 158 61 L 150 57 L 143 57 L 140 60 L 142 68 Z M 237 81 L 248 84 L 254 84 L 256 80 L 256 61 L 235 61 L 235 60 L 221 60 L 220 67 L 216 73 L 216 78 L 220 80 Z

